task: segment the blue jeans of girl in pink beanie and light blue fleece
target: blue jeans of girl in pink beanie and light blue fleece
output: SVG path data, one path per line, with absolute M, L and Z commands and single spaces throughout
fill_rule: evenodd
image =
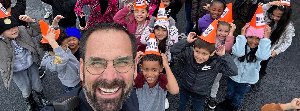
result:
M 251 84 L 238 83 L 227 77 L 226 98 L 232 99 L 232 106 L 241 106 L 246 93 L 250 90 Z

